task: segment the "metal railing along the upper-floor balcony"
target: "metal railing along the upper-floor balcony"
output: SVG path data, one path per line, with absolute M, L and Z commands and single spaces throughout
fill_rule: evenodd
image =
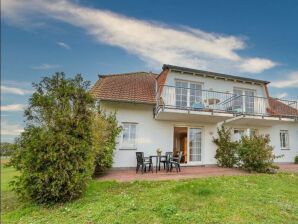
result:
M 298 117 L 298 102 L 228 92 L 159 86 L 157 109 L 172 108 L 233 114 Z

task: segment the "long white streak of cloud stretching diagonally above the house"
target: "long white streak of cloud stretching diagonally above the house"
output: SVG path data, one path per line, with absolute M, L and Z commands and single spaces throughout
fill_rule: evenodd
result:
M 209 33 L 184 26 L 168 26 L 110 11 L 64 1 L 17 1 L 2 3 L 6 20 L 19 21 L 40 15 L 79 27 L 98 42 L 119 47 L 149 65 L 163 63 L 221 71 L 259 73 L 276 63 L 265 58 L 246 58 L 243 38 Z M 46 67 L 46 66 L 45 66 Z

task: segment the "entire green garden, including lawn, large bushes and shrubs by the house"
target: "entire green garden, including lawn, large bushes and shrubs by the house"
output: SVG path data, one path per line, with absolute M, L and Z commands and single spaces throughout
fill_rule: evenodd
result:
M 1 161 L 3 223 L 298 222 L 298 174 L 268 174 L 278 168 L 268 136 L 234 142 L 229 129 L 218 129 L 218 165 L 254 172 L 248 176 L 95 178 L 111 168 L 121 127 L 116 114 L 101 111 L 89 86 L 64 73 L 34 84 L 25 130 Z

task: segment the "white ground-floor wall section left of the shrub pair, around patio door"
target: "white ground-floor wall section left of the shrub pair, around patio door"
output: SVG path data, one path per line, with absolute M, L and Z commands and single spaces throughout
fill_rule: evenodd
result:
M 132 103 L 101 102 L 101 108 L 107 112 L 116 111 L 117 120 L 121 122 L 137 123 L 137 150 L 121 149 L 119 136 L 113 167 L 135 167 L 136 151 L 142 151 L 145 156 L 156 155 L 156 149 L 161 148 L 163 153 L 173 151 L 174 126 L 200 127 L 203 131 L 203 162 L 215 164 L 216 147 L 212 143 L 212 135 L 216 133 L 216 125 L 202 123 L 182 123 L 159 121 L 153 118 L 153 106 Z

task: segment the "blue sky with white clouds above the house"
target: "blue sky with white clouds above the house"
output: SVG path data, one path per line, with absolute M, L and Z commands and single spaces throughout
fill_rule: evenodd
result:
M 152 71 L 163 64 L 268 80 L 298 99 L 298 1 L 2 0 L 1 141 L 24 128 L 32 83 L 55 72 Z

